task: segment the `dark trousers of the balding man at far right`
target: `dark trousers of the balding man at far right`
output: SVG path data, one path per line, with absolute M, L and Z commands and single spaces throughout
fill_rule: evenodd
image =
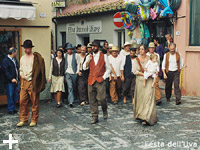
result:
M 172 84 L 174 82 L 174 93 L 176 100 L 181 100 L 181 90 L 179 88 L 180 72 L 178 71 L 169 71 L 167 73 L 166 85 L 165 85 L 165 94 L 166 98 L 170 99 L 172 95 Z

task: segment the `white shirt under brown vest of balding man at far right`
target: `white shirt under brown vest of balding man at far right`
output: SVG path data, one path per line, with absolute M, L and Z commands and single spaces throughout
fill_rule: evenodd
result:
M 166 69 L 165 64 L 166 64 L 166 54 L 164 55 L 164 58 L 163 58 L 162 69 Z M 181 54 L 180 54 L 180 69 L 182 68 L 183 68 L 183 58 L 181 57 Z M 169 55 L 169 71 L 177 71 L 177 70 L 178 70 L 178 66 L 176 62 L 176 54 L 174 55 L 170 54 Z

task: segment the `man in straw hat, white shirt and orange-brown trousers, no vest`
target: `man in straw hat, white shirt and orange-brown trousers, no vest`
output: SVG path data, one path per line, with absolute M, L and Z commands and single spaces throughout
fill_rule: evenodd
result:
M 110 96 L 114 104 L 117 104 L 119 100 L 122 87 L 122 81 L 120 77 L 123 70 L 123 57 L 118 55 L 118 51 L 119 48 L 117 46 L 113 46 L 111 49 L 111 55 L 108 56 L 108 60 L 112 69 L 110 73 Z

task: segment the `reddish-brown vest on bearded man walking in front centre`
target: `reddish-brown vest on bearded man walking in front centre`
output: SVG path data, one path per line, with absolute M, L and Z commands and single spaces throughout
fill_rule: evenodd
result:
M 89 67 L 90 67 L 90 73 L 88 77 L 88 84 L 92 85 L 96 81 L 99 83 L 103 82 L 104 80 L 103 75 L 106 71 L 106 67 L 104 61 L 104 54 L 102 52 L 100 52 L 99 61 L 97 65 L 95 66 L 94 58 L 92 58 Z

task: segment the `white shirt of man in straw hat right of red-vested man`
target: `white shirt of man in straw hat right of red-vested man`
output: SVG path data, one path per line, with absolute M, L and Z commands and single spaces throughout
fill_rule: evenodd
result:
M 124 70 L 123 68 L 123 57 L 118 55 L 116 58 L 112 55 L 108 56 L 109 63 L 112 64 L 112 67 L 118 77 L 121 76 L 120 70 Z M 112 70 L 112 69 L 111 69 Z M 113 77 L 114 74 L 111 71 L 111 76 Z

